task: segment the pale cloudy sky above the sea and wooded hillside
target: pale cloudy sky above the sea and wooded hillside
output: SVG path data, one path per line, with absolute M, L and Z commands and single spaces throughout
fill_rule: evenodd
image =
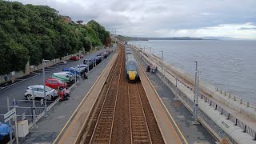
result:
M 256 39 L 256 0 L 18 0 L 138 37 Z

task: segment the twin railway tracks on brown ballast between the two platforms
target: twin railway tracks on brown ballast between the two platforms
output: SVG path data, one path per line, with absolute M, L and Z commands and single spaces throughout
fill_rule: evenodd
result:
M 119 48 L 118 58 L 76 143 L 164 143 L 142 82 L 126 79 L 125 48 Z

